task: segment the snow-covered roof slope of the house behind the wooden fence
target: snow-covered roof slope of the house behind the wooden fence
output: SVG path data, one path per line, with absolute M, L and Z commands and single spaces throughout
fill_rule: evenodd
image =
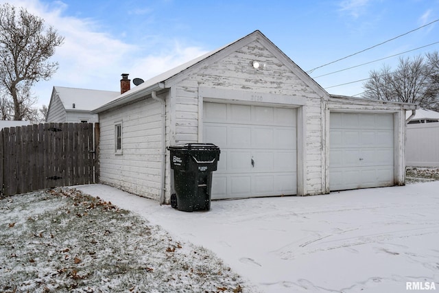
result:
M 91 111 L 120 95 L 119 91 L 75 89 L 63 86 L 54 86 L 54 89 L 66 110 Z M 75 108 L 73 108 L 73 104 L 75 104 Z

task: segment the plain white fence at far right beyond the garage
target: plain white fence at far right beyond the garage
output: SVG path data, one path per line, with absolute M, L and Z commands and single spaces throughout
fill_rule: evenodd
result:
M 408 124 L 407 166 L 439 167 L 439 122 Z

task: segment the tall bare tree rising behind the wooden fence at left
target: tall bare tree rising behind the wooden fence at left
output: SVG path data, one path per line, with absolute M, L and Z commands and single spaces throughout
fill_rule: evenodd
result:
M 14 105 L 14 120 L 22 120 L 32 109 L 36 97 L 30 89 L 39 80 L 49 80 L 58 62 L 49 62 L 64 38 L 44 20 L 19 11 L 8 3 L 0 5 L 0 88 L 7 91 Z

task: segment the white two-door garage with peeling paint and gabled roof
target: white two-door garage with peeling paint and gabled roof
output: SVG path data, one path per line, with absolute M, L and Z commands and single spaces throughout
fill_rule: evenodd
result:
M 100 180 L 169 202 L 166 146 L 205 142 L 221 150 L 213 199 L 404 185 L 405 112 L 414 109 L 329 95 L 255 31 L 93 110 Z

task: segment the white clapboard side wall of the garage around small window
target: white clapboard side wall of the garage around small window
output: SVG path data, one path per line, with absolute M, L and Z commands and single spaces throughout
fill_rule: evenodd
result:
M 100 114 L 102 183 L 158 200 L 161 191 L 161 105 L 143 99 Z M 115 122 L 122 121 L 122 152 L 115 154 Z

